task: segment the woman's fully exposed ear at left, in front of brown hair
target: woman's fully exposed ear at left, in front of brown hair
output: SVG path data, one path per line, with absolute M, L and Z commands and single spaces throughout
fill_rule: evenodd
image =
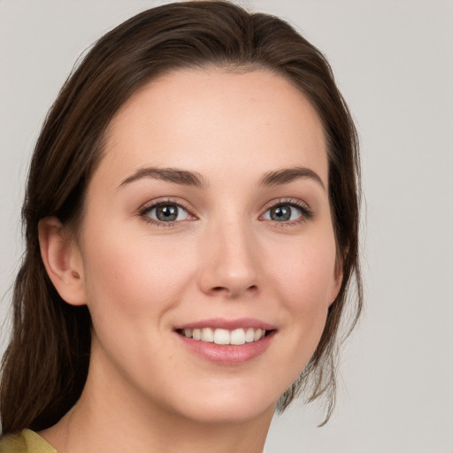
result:
M 86 294 L 79 248 L 56 217 L 41 219 L 38 229 L 42 261 L 58 294 L 71 305 L 84 305 Z

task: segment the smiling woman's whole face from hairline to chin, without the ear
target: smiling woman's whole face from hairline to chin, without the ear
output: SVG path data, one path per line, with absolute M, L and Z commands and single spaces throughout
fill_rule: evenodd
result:
M 273 73 L 180 71 L 108 129 L 78 241 L 100 388 L 173 417 L 272 412 L 337 294 L 326 142 Z

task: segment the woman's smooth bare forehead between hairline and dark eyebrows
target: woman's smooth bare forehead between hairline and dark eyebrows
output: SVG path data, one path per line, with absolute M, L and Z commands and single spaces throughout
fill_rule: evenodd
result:
M 319 116 L 284 77 L 257 70 L 181 70 L 138 90 L 107 129 L 101 173 L 147 165 L 237 174 L 307 166 L 327 187 Z M 104 168 L 103 168 L 104 167 Z

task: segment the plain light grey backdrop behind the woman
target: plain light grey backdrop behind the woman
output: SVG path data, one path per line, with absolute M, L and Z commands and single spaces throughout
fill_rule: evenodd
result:
M 42 120 L 76 58 L 150 6 L 0 1 L 0 318 Z M 344 344 L 339 398 L 275 418 L 267 453 L 453 452 L 453 2 L 256 0 L 326 53 L 362 143 L 365 316 Z M 2 329 L 4 349 L 8 325 Z

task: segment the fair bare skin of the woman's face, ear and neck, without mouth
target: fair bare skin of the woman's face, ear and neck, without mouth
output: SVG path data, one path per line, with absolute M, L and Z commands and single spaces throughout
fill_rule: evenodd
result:
M 148 167 L 196 173 L 205 187 L 124 182 Z M 314 176 L 258 184 L 295 167 Z M 168 200 L 187 214 L 152 223 L 143 207 Z M 311 217 L 293 206 L 292 220 L 274 220 L 279 203 Z M 73 241 L 63 232 L 42 220 L 42 257 L 65 301 L 88 305 L 92 355 L 80 402 L 42 437 L 63 453 L 261 452 L 342 280 L 326 143 L 307 99 L 263 70 L 150 82 L 111 121 L 81 231 Z M 213 318 L 260 319 L 272 341 L 242 364 L 213 363 L 174 332 Z

